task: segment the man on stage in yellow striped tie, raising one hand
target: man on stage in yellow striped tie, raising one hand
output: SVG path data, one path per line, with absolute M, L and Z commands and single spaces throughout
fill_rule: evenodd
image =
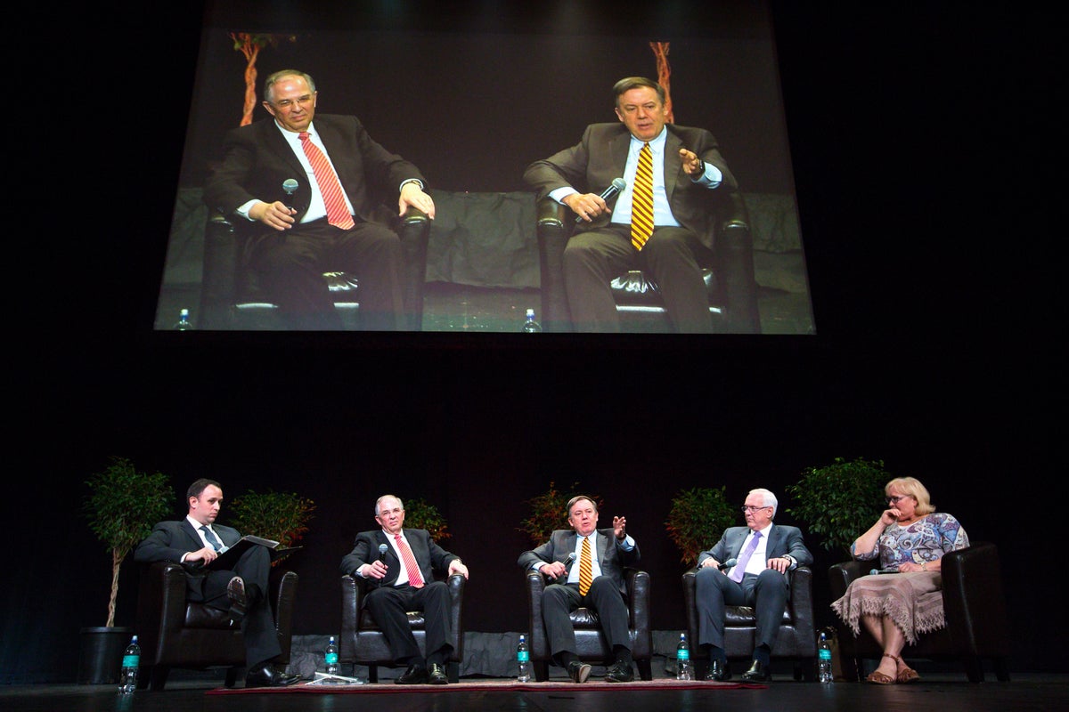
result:
M 613 528 L 597 528 L 598 506 L 588 496 L 574 496 L 568 503 L 568 523 L 571 529 L 557 529 L 548 541 L 525 551 L 517 560 L 525 571 L 533 569 L 556 580 L 542 594 L 549 652 L 573 682 L 586 682 L 590 677 L 590 665 L 582 663 L 576 654 L 575 630 L 569 616 L 586 606 L 598 612 L 602 632 L 616 656 L 605 671 L 605 681 L 631 682 L 635 671 L 623 568 L 638 564 L 638 544 L 624 532 L 628 520 L 623 517 L 613 518 Z M 573 566 L 573 561 L 578 564 Z

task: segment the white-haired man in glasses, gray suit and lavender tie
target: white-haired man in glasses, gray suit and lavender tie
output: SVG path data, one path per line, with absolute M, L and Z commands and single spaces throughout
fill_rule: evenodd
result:
M 753 606 L 757 614 L 757 644 L 743 680 L 772 679 L 769 662 L 790 596 L 787 572 L 812 564 L 801 529 L 773 525 L 777 506 L 769 490 L 750 490 L 742 508 L 746 526 L 729 527 L 715 547 L 698 555 L 698 645 L 709 653 L 707 680 L 731 678 L 724 651 L 725 605 Z M 724 563 L 733 565 L 722 571 Z

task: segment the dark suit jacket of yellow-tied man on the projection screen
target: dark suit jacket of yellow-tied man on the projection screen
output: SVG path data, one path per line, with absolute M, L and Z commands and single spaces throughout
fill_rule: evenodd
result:
M 665 193 L 672 215 L 681 225 L 695 233 L 702 244 L 714 250 L 715 203 L 726 193 L 737 190 L 739 183 L 728 170 L 712 133 L 702 128 L 673 124 L 666 124 L 665 128 L 668 130 L 665 140 Z M 623 124 L 591 124 L 576 145 L 528 165 L 524 180 L 538 190 L 539 200 L 567 186 L 579 192 L 601 193 L 614 178 L 623 176 L 630 145 L 631 132 Z M 718 168 L 724 174 L 721 185 L 710 190 L 691 180 L 691 176 L 683 171 L 680 148 L 693 151 L 701 160 Z M 603 227 L 610 217 L 611 211 L 604 212 L 592 223 L 583 221 L 576 230 Z

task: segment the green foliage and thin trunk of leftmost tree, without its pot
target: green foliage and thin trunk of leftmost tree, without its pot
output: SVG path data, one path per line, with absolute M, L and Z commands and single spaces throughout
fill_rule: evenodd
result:
M 111 552 L 111 597 L 108 628 L 115 624 L 119 569 L 135 547 L 152 532 L 156 522 L 171 512 L 174 491 L 167 476 L 138 472 L 123 457 L 111 457 L 107 468 L 86 480 L 89 495 L 83 513 L 89 528 Z

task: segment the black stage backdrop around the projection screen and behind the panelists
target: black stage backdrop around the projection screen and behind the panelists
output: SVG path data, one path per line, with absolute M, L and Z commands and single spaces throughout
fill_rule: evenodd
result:
M 230 497 L 284 489 L 313 500 L 306 549 L 291 559 L 297 634 L 337 630 L 337 564 L 386 491 L 424 496 L 447 517 L 447 548 L 472 571 L 468 629 L 518 631 L 525 502 L 551 480 L 578 481 L 604 499 L 606 518 L 628 517 L 654 581 L 654 627 L 680 629 L 680 552 L 663 524 L 676 491 L 725 486 L 741 503 L 763 486 L 790 507 L 784 488 L 805 466 L 881 458 L 920 477 L 973 540 L 998 543 L 1011 669 L 1066 670 L 1042 615 L 1063 597 L 1033 583 L 1059 566 L 1066 472 L 1062 254 L 1038 170 L 1053 151 L 1042 141 L 1057 64 L 1050 18 L 967 3 L 772 2 L 816 336 L 353 341 L 152 331 L 198 4 L 80 7 L 10 28 L 30 64 L 51 68 L 7 84 L 21 128 L 12 165 L 31 170 L 12 193 L 29 219 L 7 240 L 3 682 L 73 680 L 79 629 L 106 620 L 110 555 L 79 507 L 109 455 L 168 474 L 175 518 L 199 476 Z M 555 6 L 536 4 L 489 14 L 416 3 L 406 6 L 423 19 L 391 21 L 528 30 Z M 575 22 L 645 34 L 633 22 L 668 21 L 664 7 L 686 4 L 629 10 L 625 21 L 592 3 Z M 673 20 L 681 35 L 713 33 L 703 12 Z M 572 115 L 560 97 L 577 96 L 588 69 L 600 70 L 561 73 L 553 100 L 531 97 L 525 110 L 576 136 L 600 115 Z M 392 86 L 428 91 L 408 78 Z M 463 104 L 431 88 L 412 111 L 434 126 Z M 67 170 L 34 168 L 42 159 Z M 818 572 L 838 560 L 808 543 Z M 826 623 L 823 575 L 817 586 Z M 136 590 L 127 561 L 119 624 L 133 624 Z

